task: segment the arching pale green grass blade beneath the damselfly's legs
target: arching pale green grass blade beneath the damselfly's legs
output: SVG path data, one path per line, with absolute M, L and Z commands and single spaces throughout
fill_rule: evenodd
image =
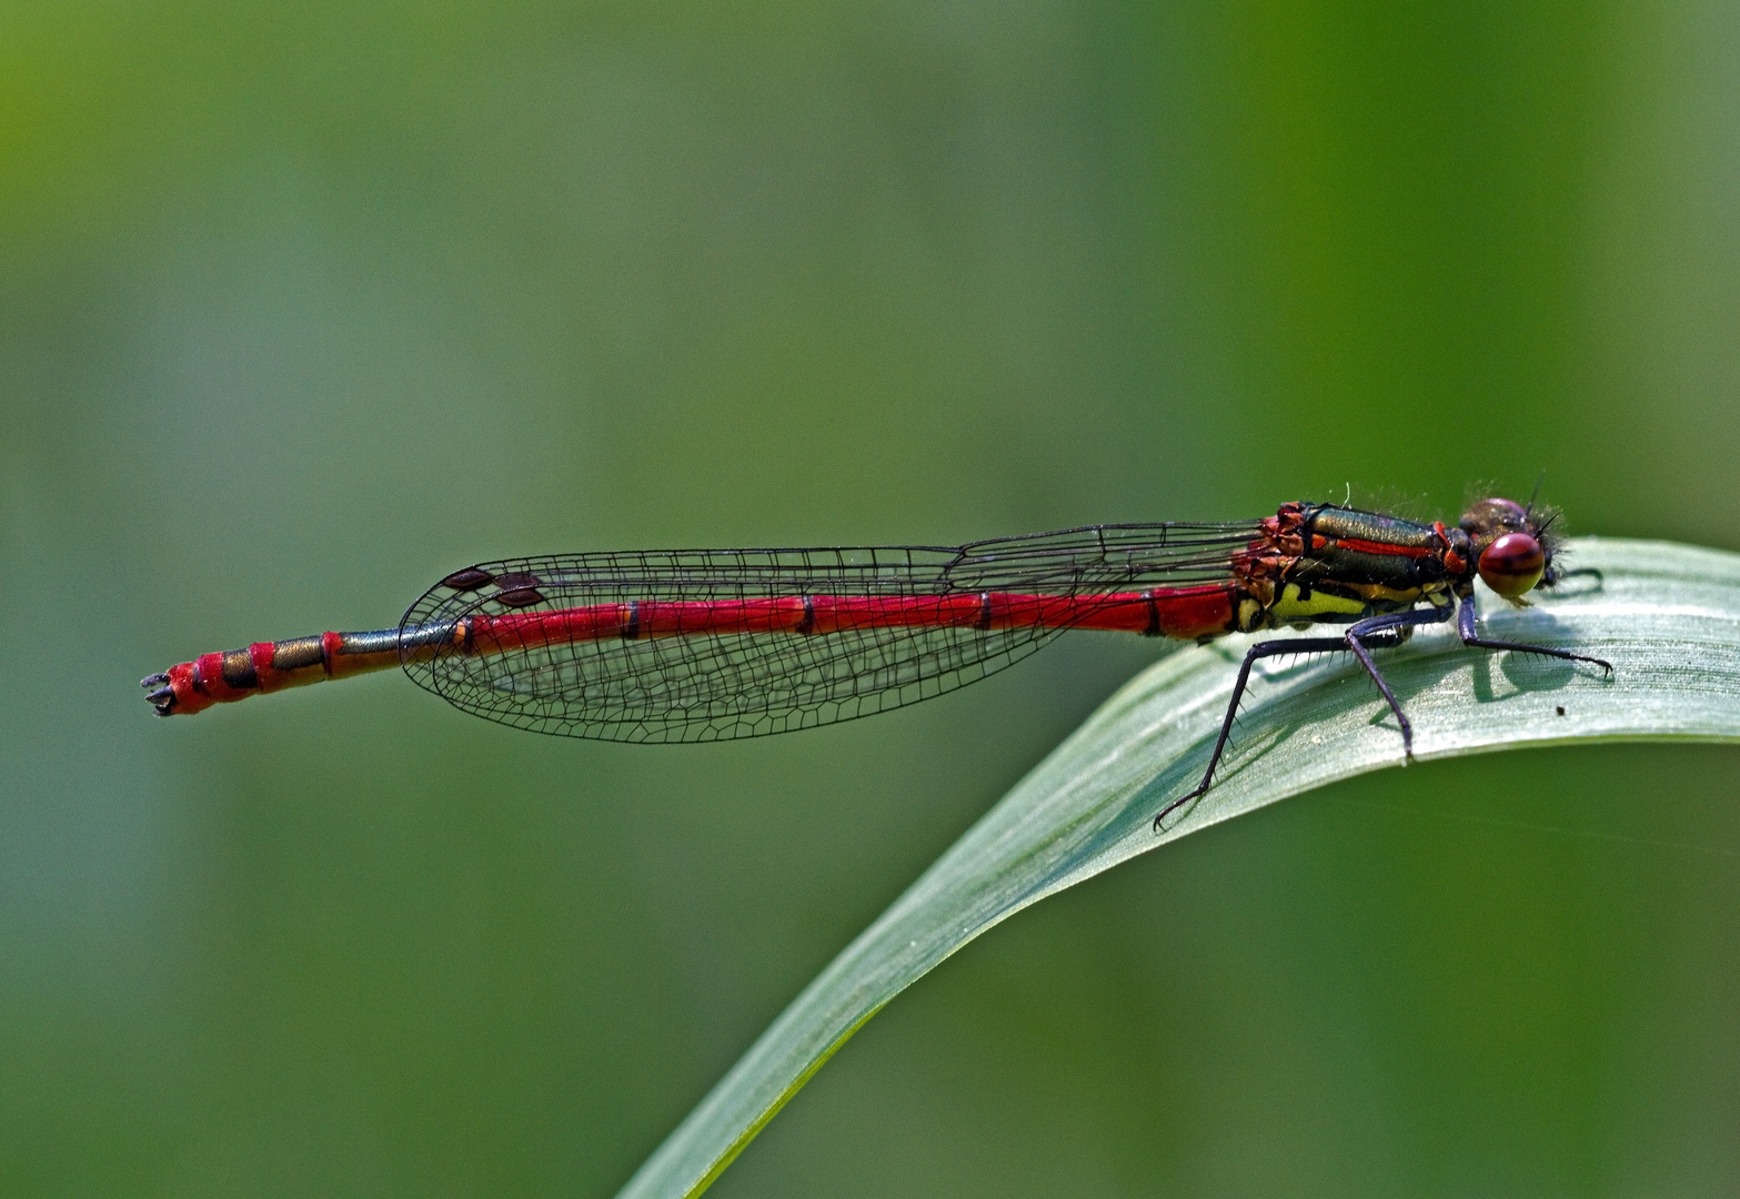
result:
M 1383 656 L 1420 759 L 1608 740 L 1740 740 L 1740 555 L 1585 538 L 1550 599 L 1482 592 L 1486 635 L 1606 658 L 1597 668 L 1465 651 L 1432 628 Z M 1401 736 L 1343 660 L 1275 660 L 1215 788 L 1164 835 L 1154 813 L 1201 774 L 1249 639 L 1173 654 L 1105 703 L 792 1002 L 628 1182 L 693 1196 L 882 1004 L 992 928 L 1082 879 L 1263 804 L 1385 766 Z M 1563 715 L 1561 715 L 1563 712 Z

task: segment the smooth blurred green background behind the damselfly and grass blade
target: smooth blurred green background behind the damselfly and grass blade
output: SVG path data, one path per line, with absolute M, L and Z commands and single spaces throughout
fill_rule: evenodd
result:
M 609 1196 L 1162 647 L 712 748 L 148 672 L 1347 484 L 1740 548 L 1737 332 L 1733 5 L 7 5 L 0 1192 Z M 1740 755 L 1606 747 L 1041 905 L 713 1194 L 1717 1196 L 1737 1128 Z

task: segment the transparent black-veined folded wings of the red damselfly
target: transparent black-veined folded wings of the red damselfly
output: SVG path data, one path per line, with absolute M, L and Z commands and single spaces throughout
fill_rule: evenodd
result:
M 1065 626 L 910 623 L 538 644 L 465 644 L 452 630 L 659 600 L 1074 597 L 1176 586 L 1223 579 L 1228 557 L 1255 531 L 1255 520 L 1091 526 L 948 548 L 604 552 L 485 562 L 412 604 L 400 653 L 419 686 L 522 729 L 607 741 L 764 736 L 954 691 L 1020 661 Z

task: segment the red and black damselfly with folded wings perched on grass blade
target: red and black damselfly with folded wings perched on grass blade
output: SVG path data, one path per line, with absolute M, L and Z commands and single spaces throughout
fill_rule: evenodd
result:
M 1202 781 L 1215 780 L 1251 666 L 1350 653 L 1413 750 L 1371 653 L 1456 620 L 1462 642 L 1599 658 L 1479 635 L 1474 579 L 1521 602 L 1552 586 L 1557 513 L 1482 499 L 1460 524 L 1288 503 L 1213 524 L 1107 524 L 962 546 L 604 552 L 449 574 L 398 628 L 202 654 L 144 679 L 158 715 L 404 666 L 480 717 L 606 741 L 720 741 L 887 712 L 1002 670 L 1070 628 L 1208 642 L 1345 625 L 1244 654 Z

